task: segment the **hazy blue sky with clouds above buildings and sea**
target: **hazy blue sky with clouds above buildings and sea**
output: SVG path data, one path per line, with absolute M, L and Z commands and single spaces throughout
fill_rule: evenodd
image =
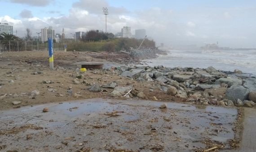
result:
M 256 0 L 0 0 L 0 22 L 25 36 L 52 26 L 67 37 L 77 31 L 105 30 L 102 7 L 107 7 L 107 32 L 123 26 L 146 29 L 148 37 L 165 46 L 203 42 L 229 47 L 256 47 Z

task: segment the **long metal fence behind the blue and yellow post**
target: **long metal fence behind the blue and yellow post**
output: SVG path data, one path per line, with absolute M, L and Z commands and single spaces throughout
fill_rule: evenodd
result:
M 54 42 L 53 50 L 64 50 L 64 42 Z M 41 41 L 4 41 L 0 40 L 0 52 L 5 51 L 47 51 L 48 43 Z

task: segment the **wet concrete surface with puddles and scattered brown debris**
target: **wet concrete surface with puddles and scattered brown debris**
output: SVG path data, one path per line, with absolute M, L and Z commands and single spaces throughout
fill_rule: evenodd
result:
M 0 111 L 4 151 L 191 151 L 204 140 L 229 149 L 235 108 L 163 102 L 88 99 Z M 44 107 L 49 111 L 43 113 Z M 83 149 L 84 148 L 84 149 Z

